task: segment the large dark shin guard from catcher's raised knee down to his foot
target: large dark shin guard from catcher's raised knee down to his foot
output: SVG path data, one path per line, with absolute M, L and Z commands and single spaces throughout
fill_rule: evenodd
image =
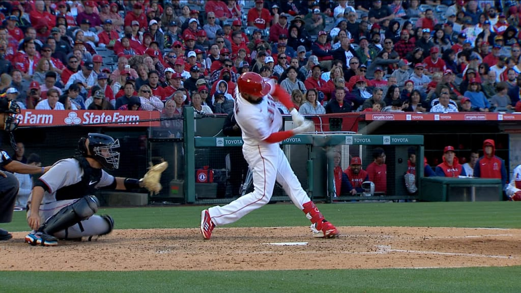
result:
M 99 205 L 100 203 L 95 196 L 85 196 L 48 218 L 39 231 L 53 235 L 58 231 L 80 223 L 84 219 L 88 219 L 97 212 Z

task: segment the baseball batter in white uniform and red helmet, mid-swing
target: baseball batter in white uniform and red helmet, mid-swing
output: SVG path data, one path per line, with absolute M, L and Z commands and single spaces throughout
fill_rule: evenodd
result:
M 295 129 L 279 131 L 282 116 L 273 96 L 291 111 L 292 119 L 297 125 Z M 304 120 L 296 111 L 290 95 L 274 80 L 264 80 L 254 72 L 246 72 L 237 80 L 234 112 L 242 129 L 242 152 L 252 169 L 254 190 L 225 206 L 213 206 L 202 211 L 201 233 L 204 239 L 210 239 L 214 227 L 233 223 L 267 204 L 275 181 L 279 182 L 292 202 L 311 220 L 314 237 L 337 237 L 337 228 L 326 221 L 309 199 L 279 146 L 279 142 L 284 139 L 314 130 L 313 123 Z

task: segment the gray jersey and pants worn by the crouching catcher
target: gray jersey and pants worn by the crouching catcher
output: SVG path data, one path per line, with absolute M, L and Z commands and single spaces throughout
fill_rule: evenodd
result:
M 64 207 L 89 195 L 89 191 L 94 188 L 110 186 L 114 184 L 114 176 L 108 174 L 103 169 L 92 168 L 90 178 L 88 178 L 89 188 L 82 184 L 84 175 L 83 168 L 76 158 L 66 158 L 56 162 L 53 167 L 42 177 L 40 185 L 45 185 L 44 198 L 40 205 L 40 218 L 42 223 L 58 213 Z M 38 183 L 37 183 L 38 184 Z M 92 193 L 91 193 L 92 194 Z M 28 205 L 31 206 L 31 198 Z M 27 217 L 31 215 L 29 210 Z M 103 235 L 111 230 L 111 224 L 105 217 L 93 215 L 84 219 L 65 230 L 54 234 L 58 238 L 81 238 L 85 236 Z

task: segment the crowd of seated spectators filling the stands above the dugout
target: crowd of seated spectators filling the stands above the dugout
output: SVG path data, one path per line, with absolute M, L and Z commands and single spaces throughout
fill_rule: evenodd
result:
M 254 71 L 303 114 L 521 111 L 520 20 L 491 0 L 1 1 L 0 94 L 229 114 Z

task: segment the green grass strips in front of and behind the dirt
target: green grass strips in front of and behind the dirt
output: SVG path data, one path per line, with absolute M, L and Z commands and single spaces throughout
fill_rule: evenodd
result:
M 520 228 L 515 202 L 319 204 L 337 226 Z M 194 228 L 205 206 L 102 209 L 117 229 Z M 23 212 L 10 231 L 27 231 Z M 292 204 L 266 205 L 230 227 L 306 226 Z M 203 240 L 201 240 L 203 241 Z M 332 240 L 334 241 L 334 240 Z M 520 243 L 521 244 L 521 243 Z M 0 255 L 8 249 L 0 244 Z M 521 247 L 521 245 L 520 245 Z M 42 248 L 45 249 L 45 248 Z M 513 249 L 519 249 L 519 247 Z M 27 260 L 30 261 L 28 255 Z M 319 267 L 320 264 L 317 264 Z M 0 272 L 0 292 L 519 292 L 521 266 L 385 270 Z

